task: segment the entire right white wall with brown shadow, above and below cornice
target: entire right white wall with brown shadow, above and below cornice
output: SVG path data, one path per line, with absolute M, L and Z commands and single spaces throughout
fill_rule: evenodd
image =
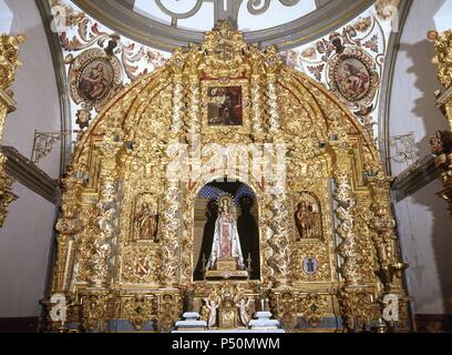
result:
M 430 136 L 448 128 L 435 109 L 433 92 L 441 84 L 431 63 L 433 44 L 427 40 L 443 2 L 413 1 L 396 64 L 390 135 L 414 132 L 420 158 L 431 154 Z M 392 162 L 394 176 L 405 169 Z M 446 203 L 435 196 L 441 190 L 440 183 L 432 183 L 396 206 L 402 248 L 410 263 L 407 276 L 415 314 L 452 313 L 452 219 Z

